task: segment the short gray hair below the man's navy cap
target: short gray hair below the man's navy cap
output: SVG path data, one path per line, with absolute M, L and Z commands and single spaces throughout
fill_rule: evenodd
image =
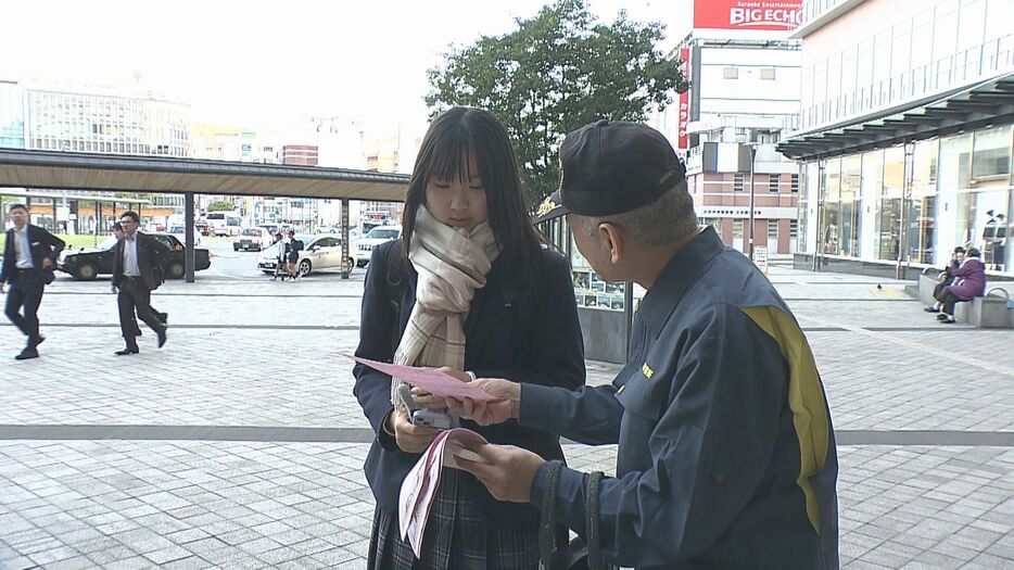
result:
M 681 180 L 672 190 L 655 202 L 622 214 L 609 216 L 571 216 L 571 227 L 586 236 L 594 236 L 599 224 L 610 223 L 622 227 L 638 245 L 661 248 L 671 245 L 687 233 L 697 231 L 697 214 L 694 199 Z

